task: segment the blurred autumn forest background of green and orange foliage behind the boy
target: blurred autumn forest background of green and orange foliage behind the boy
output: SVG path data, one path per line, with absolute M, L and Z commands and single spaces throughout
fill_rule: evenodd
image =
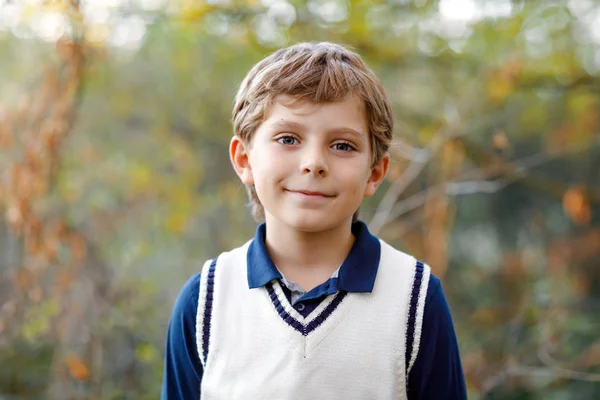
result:
M 392 98 L 361 215 L 442 278 L 469 398 L 600 398 L 600 2 L 0 0 L 0 399 L 159 397 L 179 289 L 256 226 L 237 85 L 308 40 Z

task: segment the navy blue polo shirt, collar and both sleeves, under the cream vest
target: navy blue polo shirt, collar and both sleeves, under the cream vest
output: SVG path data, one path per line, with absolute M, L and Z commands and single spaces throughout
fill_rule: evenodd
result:
M 265 224 L 261 224 L 248 248 L 248 287 L 258 288 L 282 279 L 265 246 Z M 363 222 L 352 225 L 356 240 L 334 276 L 297 299 L 293 306 L 308 316 L 328 295 L 337 291 L 371 292 L 379 267 L 380 243 Z M 171 315 L 167 332 L 162 399 L 199 399 L 202 364 L 196 347 L 196 312 L 200 274 L 183 286 Z M 281 285 L 288 300 L 291 291 Z M 440 280 L 433 274 L 425 299 L 421 343 L 408 377 L 408 399 L 466 399 L 466 388 L 458 343 L 450 309 Z

